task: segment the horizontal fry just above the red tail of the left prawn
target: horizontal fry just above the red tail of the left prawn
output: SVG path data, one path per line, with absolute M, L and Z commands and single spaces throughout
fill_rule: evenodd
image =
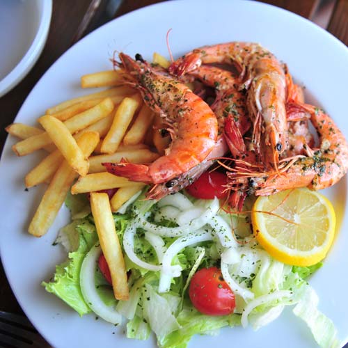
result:
M 155 152 L 151 152 L 148 149 L 129 150 L 129 151 L 117 151 L 111 155 L 96 155 L 89 158 L 89 170 L 88 173 L 101 173 L 105 172 L 106 168 L 102 165 L 105 162 L 118 163 L 121 159 L 126 159 L 131 163 L 151 163 L 157 159 L 159 155 Z

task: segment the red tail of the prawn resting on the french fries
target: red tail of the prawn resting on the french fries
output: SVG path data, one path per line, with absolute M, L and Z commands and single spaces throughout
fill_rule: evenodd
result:
M 152 177 L 149 175 L 149 167 L 145 164 L 134 164 L 134 163 L 103 163 L 102 164 L 106 171 L 113 175 L 120 177 L 127 177 L 127 179 L 136 182 L 151 183 Z

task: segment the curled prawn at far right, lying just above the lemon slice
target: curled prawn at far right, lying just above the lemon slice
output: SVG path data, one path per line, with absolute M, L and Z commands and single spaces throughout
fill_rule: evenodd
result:
M 311 156 L 297 156 L 283 163 L 280 173 L 238 173 L 232 169 L 230 187 L 232 191 L 248 190 L 256 196 L 268 196 L 278 191 L 309 187 L 326 189 L 338 182 L 348 170 L 348 143 L 335 122 L 324 111 L 309 104 L 298 104 L 299 112 L 307 112 L 317 130 L 320 146 L 312 150 Z M 248 187 L 237 187 L 243 179 Z

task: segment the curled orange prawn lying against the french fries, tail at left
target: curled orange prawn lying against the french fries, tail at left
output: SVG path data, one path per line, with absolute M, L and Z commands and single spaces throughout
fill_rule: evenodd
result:
M 127 84 L 137 88 L 143 100 L 164 119 L 172 142 L 164 156 L 152 164 L 106 163 L 107 171 L 129 180 L 160 184 L 189 171 L 212 151 L 218 133 L 212 109 L 187 86 L 142 59 L 134 61 L 120 53 L 120 67 Z

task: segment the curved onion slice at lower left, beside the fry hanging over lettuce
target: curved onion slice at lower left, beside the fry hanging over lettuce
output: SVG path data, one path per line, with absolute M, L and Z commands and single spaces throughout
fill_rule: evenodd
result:
M 84 262 L 82 262 L 80 271 L 82 296 L 84 296 L 84 300 L 96 315 L 111 324 L 120 324 L 122 321 L 122 315 L 120 315 L 120 313 L 118 313 L 114 308 L 106 306 L 95 289 L 95 269 L 101 251 L 102 249 L 100 248 L 99 243 L 92 246 L 90 251 L 87 253 L 86 258 L 84 258 Z

